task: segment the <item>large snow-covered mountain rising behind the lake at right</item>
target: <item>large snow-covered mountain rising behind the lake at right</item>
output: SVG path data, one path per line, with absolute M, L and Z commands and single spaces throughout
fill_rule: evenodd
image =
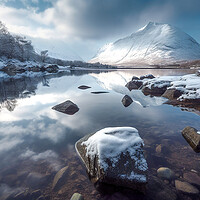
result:
M 150 22 L 132 35 L 105 45 L 90 62 L 118 66 L 172 64 L 200 59 L 200 44 L 169 24 Z

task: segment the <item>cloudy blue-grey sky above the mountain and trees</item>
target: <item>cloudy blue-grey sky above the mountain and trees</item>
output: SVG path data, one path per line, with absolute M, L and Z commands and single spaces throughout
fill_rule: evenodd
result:
M 199 0 L 0 0 L 0 20 L 37 49 L 84 60 L 149 21 L 170 23 L 200 43 Z

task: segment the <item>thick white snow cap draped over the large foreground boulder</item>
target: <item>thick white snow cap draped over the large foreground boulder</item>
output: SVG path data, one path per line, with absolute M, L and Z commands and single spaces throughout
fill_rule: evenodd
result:
M 113 163 L 113 166 L 116 166 L 121 153 L 125 152 L 129 152 L 131 158 L 135 160 L 136 169 L 141 171 L 148 169 L 143 154 L 136 156 L 137 151 L 141 150 L 144 143 L 135 128 L 104 128 L 92 135 L 87 141 L 82 142 L 81 145 L 86 146 L 87 156 L 91 158 L 94 158 L 95 155 L 98 156 L 100 167 L 104 170 L 108 168 L 108 164 L 105 162 L 107 159 Z M 130 176 L 129 178 L 135 178 L 135 176 Z

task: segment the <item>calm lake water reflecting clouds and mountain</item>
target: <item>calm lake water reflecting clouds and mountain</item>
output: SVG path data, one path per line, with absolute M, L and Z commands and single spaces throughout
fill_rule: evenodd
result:
M 40 189 L 47 199 L 70 199 L 75 192 L 81 193 L 86 200 L 171 199 L 161 195 L 162 188 L 155 191 L 150 188 L 151 192 L 143 197 L 117 191 L 101 194 L 95 190 L 76 155 L 74 144 L 89 133 L 113 126 L 132 126 L 139 130 L 145 141 L 150 179 L 157 178 L 156 170 L 162 166 L 171 168 L 178 180 L 191 170 L 200 175 L 199 154 L 181 135 L 186 126 L 200 130 L 199 115 L 163 104 L 164 98 L 146 97 L 140 91 L 130 92 L 124 87 L 133 75 L 149 73 L 155 76 L 183 75 L 193 71 L 73 71 L 51 77 L 1 80 L 0 199 L 36 189 Z M 80 85 L 91 88 L 80 90 Z M 109 93 L 91 93 L 98 91 Z M 125 94 L 134 100 L 127 108 L 121 103 Z M 66 100 L 76 103 L 79 112 L 70 116 L 51 109 Z M 164 147 L 161 153 L 156 152 L 160 144 Z M 69 166 L 65 184 L 58 191 L 52 191 L 56 172 L 65 166 Z M 156 180 L 167 188 L 166 193 L 174 192 L 174 181 Z M 175 193 L 178 199 L 200 198 Z

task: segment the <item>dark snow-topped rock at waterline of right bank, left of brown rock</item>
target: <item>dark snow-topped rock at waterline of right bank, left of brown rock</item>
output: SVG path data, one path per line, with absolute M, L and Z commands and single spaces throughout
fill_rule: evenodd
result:
M 152 85 L 151 88 L 144 85 L 142 87 L 142 92 L 144 95 L 161 96 L 165 93 L 166 90 L 167 90 L 167 85 L 164 85 L 162 87 L 157 87 Z

